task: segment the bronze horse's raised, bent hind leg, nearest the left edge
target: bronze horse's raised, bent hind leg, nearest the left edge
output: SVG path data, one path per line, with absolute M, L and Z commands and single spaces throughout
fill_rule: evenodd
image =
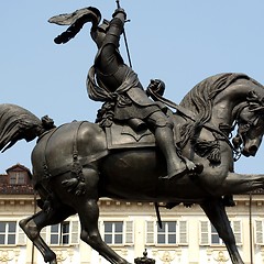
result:
M 48 211 L 40 211 L 30 218 L 20 221 L 21 229 L 25 232 L 28 238 L 33 242 L 37 250 L 42 253 L 44 261 L 50 264 L 56 264 L 56 254 L 48 248 L 45 241 L 41 238 L 41 230 L 51 224 L 56 224 L 73 215 L 73 211 L 65 210 L 65 208 Z

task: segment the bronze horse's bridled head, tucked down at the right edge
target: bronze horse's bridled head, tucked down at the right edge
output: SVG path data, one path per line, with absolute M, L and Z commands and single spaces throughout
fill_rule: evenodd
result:
M 233 145 L 240 147 L 244 156 L 255 156 L 264 134 L 264 99 L 250 92 L 246 102 L 238 109 L 238 134 Z

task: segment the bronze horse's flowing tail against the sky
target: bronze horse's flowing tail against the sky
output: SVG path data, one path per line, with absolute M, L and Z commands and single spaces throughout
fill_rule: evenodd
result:
M 54 128 L 53 120 L 40 120 L 29 110 L 11 103 L 0 105 L 0 151 L 4 152 L 19 140 L 32 141 Z

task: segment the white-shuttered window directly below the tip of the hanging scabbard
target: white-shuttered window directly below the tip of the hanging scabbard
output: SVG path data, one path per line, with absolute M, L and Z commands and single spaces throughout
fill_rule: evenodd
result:
M 187 244 L 186 221 L 163 221 L 162 228 L 157 222 L 146 222 L 146 244 Z

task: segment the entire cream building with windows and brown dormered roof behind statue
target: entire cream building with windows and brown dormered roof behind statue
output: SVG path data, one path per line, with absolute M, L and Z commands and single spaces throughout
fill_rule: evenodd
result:
M 30 170 L 16 164 L 0 177 L 0 263 L 44 264 L 19 221 L 37 211 Z M 234 197 L 227 208 L 238 249 L 246 264 L 264 263 L 264 195 Z M 199 206 L 161 208 L 162 229 L 153 202 L 101 199 L 99 229 L 103 240 L 130 263 L 147 251 L 156 264 L 230 264 L 229 254 Z M 57 254 L 59 264 L 108 264 L 79 239 L 77 216 L 46 227 L 42 238 Z

